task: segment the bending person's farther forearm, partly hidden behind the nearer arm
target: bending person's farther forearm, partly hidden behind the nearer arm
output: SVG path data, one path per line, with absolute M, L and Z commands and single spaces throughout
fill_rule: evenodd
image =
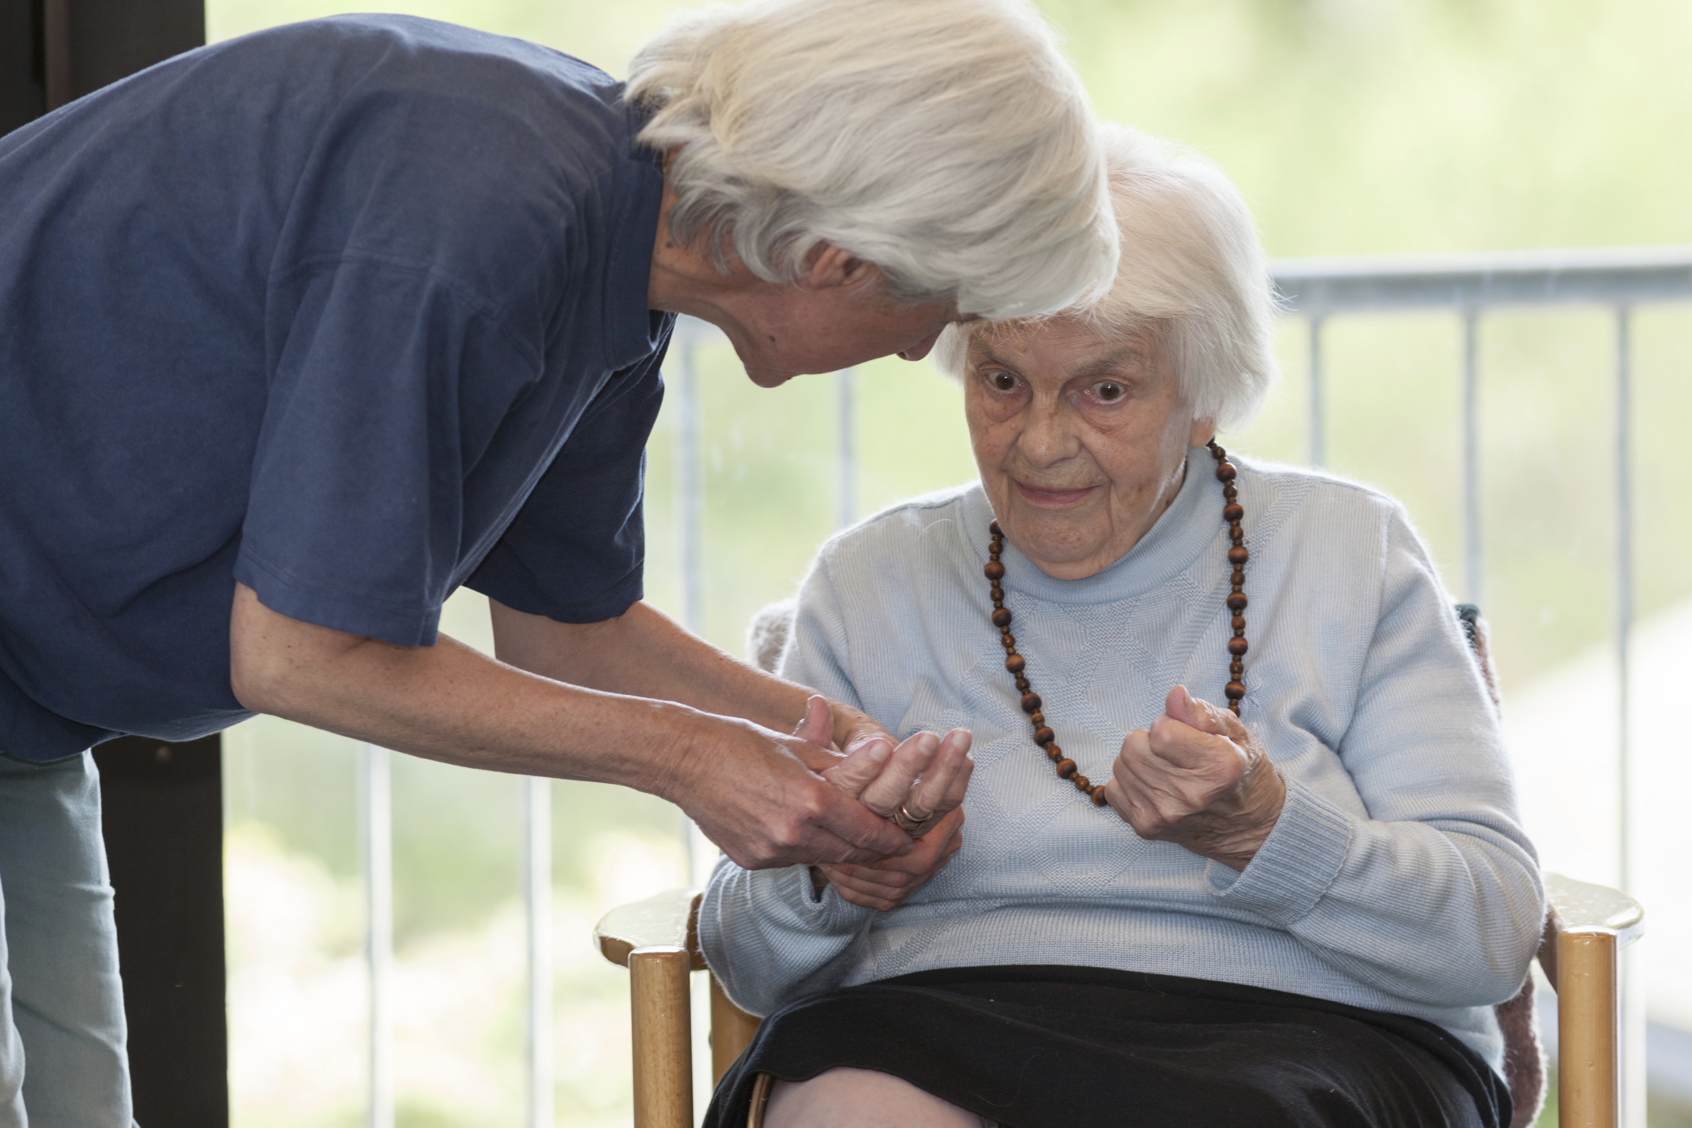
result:
M 634 604 L 604 622 L 567 624 L 491 600 L 494 653 L 506 663 L 569 685 L 680 702 L 790 732 L 805 690 L 756 670 Z

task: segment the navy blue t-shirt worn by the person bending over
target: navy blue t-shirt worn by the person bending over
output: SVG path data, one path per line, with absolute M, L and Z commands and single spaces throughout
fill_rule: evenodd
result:
M 343 17 L 0 139 L 0 751 L 245 717 L 237 580 L 399 646 L 460 583 L 638 600 L 641 120 L 555 51 Z

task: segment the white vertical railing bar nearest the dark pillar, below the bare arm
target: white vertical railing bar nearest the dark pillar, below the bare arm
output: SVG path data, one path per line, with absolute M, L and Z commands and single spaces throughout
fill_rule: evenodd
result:
M 359 746 L 359 829 L 364 861 L 364 966 L 371 991 L 369 1128 L 394 1125 L 394 815 L 389 751 Z

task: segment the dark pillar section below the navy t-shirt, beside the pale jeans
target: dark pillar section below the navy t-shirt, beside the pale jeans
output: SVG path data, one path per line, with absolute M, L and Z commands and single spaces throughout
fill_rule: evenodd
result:
M 220 739 L 95 749 L 142 1128 L 227 1128 Z

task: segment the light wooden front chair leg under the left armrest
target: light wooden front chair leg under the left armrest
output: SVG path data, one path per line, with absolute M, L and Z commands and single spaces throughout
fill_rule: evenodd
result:
M 694 1128 L 690 962 L 685 947 L 629 952 L 634 1128 Z

